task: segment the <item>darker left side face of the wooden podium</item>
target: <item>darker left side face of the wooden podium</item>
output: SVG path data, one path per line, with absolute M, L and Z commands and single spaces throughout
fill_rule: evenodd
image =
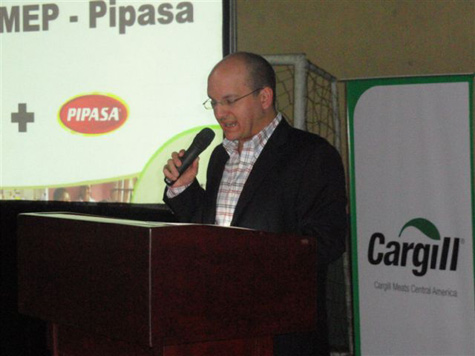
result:
M 150 345 L 150 229 L 19 217 L 19 311 Z

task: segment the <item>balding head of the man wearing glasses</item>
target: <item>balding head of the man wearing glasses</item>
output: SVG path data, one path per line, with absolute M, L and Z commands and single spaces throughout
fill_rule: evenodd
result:
M 238 52 L 220 61 L 208 77 L 214 115 L 229 140 L 242 143 L 277 115 L 275 73 L 261 56 Z

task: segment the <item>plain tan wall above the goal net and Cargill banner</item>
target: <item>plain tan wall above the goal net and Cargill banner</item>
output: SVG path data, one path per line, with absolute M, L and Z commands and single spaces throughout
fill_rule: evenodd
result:
M 305 53 L 339 80 L 475 73 L 475 0 L 236 0 L 236 8 L 238 50 Z

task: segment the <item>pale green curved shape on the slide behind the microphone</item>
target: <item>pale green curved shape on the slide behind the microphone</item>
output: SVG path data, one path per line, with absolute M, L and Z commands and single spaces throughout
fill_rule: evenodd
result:
M 195 127 L 176 135 L 160 147 L 145 165 L 142 173 L 140 173 L 132 196 L 132 203 L 163 203 L 163 192 L 165 190 L 165 182 L 163 181 L 164 176 L 162 172 L 163 167 L 167 163 L 172 152 L 187 149 L 198 132 L 200 132 L 204 127 L 209 127 L 216 134 L 213 142 L 211 142 L 209 147 L 200 155 L 198 181 L 201 185 L 206 183 L 206 168 L 208 166 L 211 152 L 213 152 L 214 147 L 222 142 L 223 138 L 223 132 L 219 125 Z

